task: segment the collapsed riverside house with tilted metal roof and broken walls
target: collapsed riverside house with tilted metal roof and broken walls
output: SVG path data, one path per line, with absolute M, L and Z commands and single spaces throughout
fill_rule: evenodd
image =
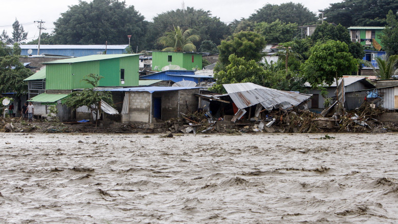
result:
M 247 115 L 247 120 L 262 120 L 266 118 L 266 114 L 261 117 L 261 112 L 272 109 L 289 110 L 293 106 L 306 109 L 307 101 L 311 97 L 310 94 L 270 89 L 251 82 L 222 86 L 227 94 L 208 93 L 196 96 L 200 98 L 200 107 L 211 111 L 210 114 L 215 119 L 223 117 L 225 121 L 232 122 L 244 115 Z

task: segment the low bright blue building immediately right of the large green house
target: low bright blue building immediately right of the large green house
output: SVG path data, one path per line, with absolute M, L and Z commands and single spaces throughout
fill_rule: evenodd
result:
M 195 75 L 195 71 L 189 70 L 167 70 L 161 71 L 157 73 L 153 73 L 150 75 L 141 76 L 140 79 L 160 79 L 160 80 L 171 80 L 174 82 L 178 81 L 194 81 L 196 83 L 202 81 L 208 81 L 213 79 L 212 76 L 205 76 L 205 75 Z

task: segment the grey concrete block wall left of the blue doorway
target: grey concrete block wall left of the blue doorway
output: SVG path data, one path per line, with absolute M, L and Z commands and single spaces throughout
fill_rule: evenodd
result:
M 151 122 L 152 94 L 148 92 L 127 92 L 129 94 L 129 114 L 122 116 L 122 122 Z

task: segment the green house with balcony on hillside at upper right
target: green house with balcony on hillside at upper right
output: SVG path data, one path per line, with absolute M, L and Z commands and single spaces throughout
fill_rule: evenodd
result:
M 375 39 L 381 45 L 379 35 L 383 32 L 384 26 L 351 26 L 348 30 L 353 42 L 360 42 L 365 46 L 372 45 L 372 39 Z

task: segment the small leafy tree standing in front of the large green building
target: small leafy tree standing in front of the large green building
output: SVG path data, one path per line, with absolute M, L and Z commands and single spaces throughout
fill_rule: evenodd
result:
M 99 76 L 96 74 L 89 74 L 87 78 L 84 78 L 83 81 L 86 81 L 92 88 L 84 89 L 83 91 L 75 91 L 70 94 L 65 100 L 65 104 L 68 107 L 72 107 L 76 109 L 81 106 L 87 106 L 91 111 L 94 111 L 95 115 L 98 115 L 99 110 L 101 108 L 101 100 L 104 100 L 109 105 L 113 104 L 112 94 L 109 91 L 94 91 L 94 87 L 98 85 L 99 79 L 103 78 L 103 76 Z M 97 123 L 95 124 L 95 126 Z

